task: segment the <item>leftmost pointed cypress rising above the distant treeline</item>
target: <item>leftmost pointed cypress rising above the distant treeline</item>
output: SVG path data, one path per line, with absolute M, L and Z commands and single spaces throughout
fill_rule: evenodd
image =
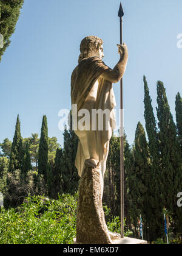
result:
M 13 172 L 16 169 L 21 169 L 22 157 L 23 157 L 22 137 L 21 137 L 21 130 L 20 130 L 19 115 L 18 115 L 16 120 L 15 135 L 12 143 L 12 152 L 10 155 L 10 165 L 8 169 L 9 172 Z

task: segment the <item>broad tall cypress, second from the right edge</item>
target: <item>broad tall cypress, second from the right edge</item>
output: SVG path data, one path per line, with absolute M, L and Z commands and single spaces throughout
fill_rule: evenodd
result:
M 157 82 L 158 138 L 160 141 L 161 199 L 170 213 L 176 208 L 176 177 L 180 168 L 180 147 L 177 141 L 177 129 L 167 101 L 166 90 L 161 81 Z

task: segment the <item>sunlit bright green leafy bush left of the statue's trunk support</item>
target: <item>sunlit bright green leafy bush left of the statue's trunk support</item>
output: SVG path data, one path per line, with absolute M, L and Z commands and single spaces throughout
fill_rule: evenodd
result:
M 76 235 L 76 197 L 28 197 L 17 209 L 2 208 L 0 244 L 69 244 Z

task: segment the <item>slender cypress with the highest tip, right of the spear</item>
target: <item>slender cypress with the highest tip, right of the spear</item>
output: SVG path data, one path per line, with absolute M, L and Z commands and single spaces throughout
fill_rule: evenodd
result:
M 149 87 L 147 85 L 146 77 L 144 76 L 144 118 L 146 121 L 146 131 L 149 140 L 149 152 L 150 152 L 150 162 L 151 162 L 151 176 L 150 176 L 150 205 L 152 207 L 152 230 L 153 240 L 156 240 L 161 236 L 161 223 L 162 220 L 162 210 L 163 205 L 161 205 L 161 190 L 163 184 L 161 184 L 160 174 L 160 152 L 159 152 L 159 141 L 157 132 L 157 121 L 153 114 L 152 99 L 150 98 Z M 155 213 L 155 214 L 154 214 Z

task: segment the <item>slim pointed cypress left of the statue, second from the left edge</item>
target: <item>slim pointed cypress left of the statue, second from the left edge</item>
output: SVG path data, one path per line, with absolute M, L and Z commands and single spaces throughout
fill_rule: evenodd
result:
M 48 168 L 48 127 L 47 117 L 44 115 L 42 119 L 41 138 L 39 142 L 38 173 L 44 176 L 45 181 L 47 180 Z

